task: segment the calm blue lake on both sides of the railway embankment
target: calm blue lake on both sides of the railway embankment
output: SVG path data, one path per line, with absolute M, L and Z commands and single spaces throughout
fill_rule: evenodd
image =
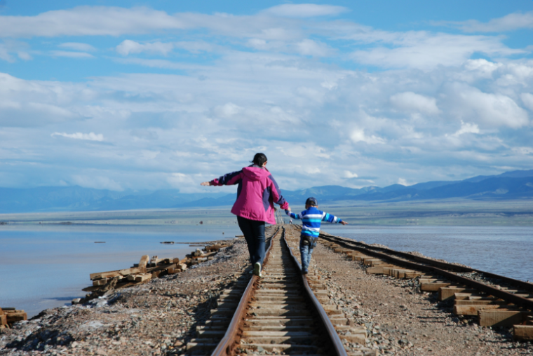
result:
M 464 263 L 533 280 L 533 229 L 473 226 L 339 226 L 323 231 L 399 251 Z M 224 232 L 224 235 L 222 235 Z M 234 219 L 220 225 L 0 226 L 0 307 L 28 316 L 85 296 L 90 273 L 129 268 L 144 254 L 183 258 L 196 249 L 162 241 L 203 242 L 241 234 Z M 95 243 L 105 241 L 106 243 Z

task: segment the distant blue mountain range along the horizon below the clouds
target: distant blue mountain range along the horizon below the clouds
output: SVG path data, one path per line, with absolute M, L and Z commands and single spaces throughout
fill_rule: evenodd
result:
M 366 186 L 361 189 L 315 186 L 298 191 L 284 190 L 282 193 L 290 203 L 297 205 L 302 205 L 309 196 L 314 196 L 321 203 L 340 200 L 394 202 L 447 198 L 533 198 L 533 170 L 515 170 L 462 181 L 426 182 L 412 186 L 393 184 L 384 188 Z M 0 213 L 217 207 L 232 205 L 235 198 L 235 193 L 180 193 L 172 189 L 117 192 L 81 186 L 0 188 Z

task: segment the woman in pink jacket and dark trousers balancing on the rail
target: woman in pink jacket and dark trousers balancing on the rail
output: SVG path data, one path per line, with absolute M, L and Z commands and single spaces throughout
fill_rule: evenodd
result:
M 274 203 L 287 209 L 289 203 L 281 196 L 278 184 L 267 170 L 267 156 L 256 153 L 252 165 L 238 172 L 224 174 L 219 179 L 203 182 L 203 186 L 238 184 L 237 200 L 231 212 L 237 215 L 238 227 L 243 231 L 250 252 L 253 273 L 261 277 L 264 260 L 264 223 L 276 224 Z

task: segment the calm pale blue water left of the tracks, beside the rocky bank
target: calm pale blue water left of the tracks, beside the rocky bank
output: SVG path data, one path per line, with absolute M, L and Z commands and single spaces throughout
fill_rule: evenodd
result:
M 236 225 L 0 226 L 0 307 L 36 315 L 85 296 L 81 289 L 91 285 L 90 273 L 129 268 L 144 254 L 183 258 L 196 249 L 161 241 L 222 240 L 239 233 Z

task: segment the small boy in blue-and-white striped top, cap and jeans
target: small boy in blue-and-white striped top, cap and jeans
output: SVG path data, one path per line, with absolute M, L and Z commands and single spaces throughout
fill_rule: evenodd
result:
M 285 214 L 292 217 L 292 219 L 302 220 L 302 233 L 300 235 L 300 254 L 302 256 L 302 273 L 306 275 L 309 271 L 309 262 L 311 262 L 311 254 L 313 248 L 316 246 L 316 240 L 321 231 L 321 221 L 328 221 L 330 223 L 347 225 L 346 221 L 342 221 L 335 215 L 322 212 L 317 209 L 318 201 L 316 198 L 307 198 L 305 202 L 305 210 L 299 214 L 290 212 L 290 207 L 285 210 Z

